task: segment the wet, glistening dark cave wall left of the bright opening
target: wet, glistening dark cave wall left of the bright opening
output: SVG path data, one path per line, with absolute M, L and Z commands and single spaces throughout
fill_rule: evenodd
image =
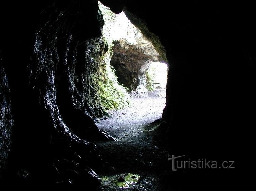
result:
M 87 141 L 114 140 L 94 122 L 104 115 L 97 77 L 107 50 L 98 2 L 7 3 L 0 12 L 1 185 L 95 188 L 101 156 Z

